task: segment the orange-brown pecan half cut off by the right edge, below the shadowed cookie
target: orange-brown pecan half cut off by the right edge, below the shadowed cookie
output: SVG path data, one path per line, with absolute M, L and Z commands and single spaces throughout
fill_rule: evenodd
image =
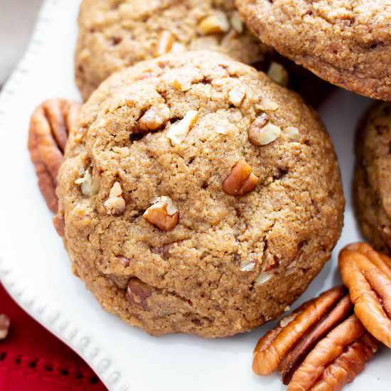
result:
M 391 258 L 366 243 L 354 243 L 341 251 L 339 269 L 356 316 L 391 348 Z

